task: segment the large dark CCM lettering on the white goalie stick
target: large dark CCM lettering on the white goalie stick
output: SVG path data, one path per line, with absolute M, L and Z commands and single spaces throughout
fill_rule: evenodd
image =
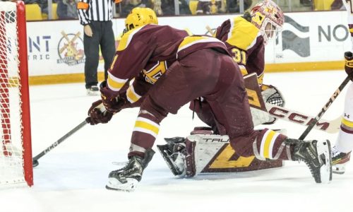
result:
M 311 121 L 313 121 L 313 118 L 311 117 L 304 116 L 303 114 L 299 114 L 297 112 L 289 112 L 288 110 L 283 110 L 277 107 L 272 107 L 268 113 L 272 114 L 274 117 L 289 119 L 290 121 L 297 122 L 299 124 L 309 125 Z M 319 126 L 320 129 L 325 130 L 328 129 L 330 123 L 318 122 L 316 123 L 316 126 Z

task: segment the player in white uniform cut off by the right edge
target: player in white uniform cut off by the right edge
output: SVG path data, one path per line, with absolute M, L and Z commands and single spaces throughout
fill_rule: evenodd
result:
M 353 11 L 352 1 L 342 0 L 348 13 L 348 28 L 352 40 L 353 52 Z M 345 53 L 345 71 L 352 76 L 353 57 L 352 52 Z M 350 154 L 353 149 L 353 84 L 349 83 L 345 97 L 345 107 L 343 110 L 342 124 L 337 141 L 332 150 L 333 172 L 336 174 L 345 173 L 345 165 L 349 162 Z

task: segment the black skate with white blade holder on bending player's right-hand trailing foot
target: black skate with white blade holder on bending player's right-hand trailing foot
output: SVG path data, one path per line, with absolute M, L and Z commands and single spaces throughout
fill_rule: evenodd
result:
M 304 161 L 317 183 L 329 183 L 332 179 L 330 141 L 299 141 L 287 139 L 289 145 L 294 145 L 293 160 Z

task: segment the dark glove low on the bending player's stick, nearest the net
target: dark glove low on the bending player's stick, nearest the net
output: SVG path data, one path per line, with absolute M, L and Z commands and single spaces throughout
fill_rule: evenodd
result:
M 102 100 L 97 100 L 92 103 L 90 110 L 88 110 L 89 117 L 86 118 L 86 122 L 90 125 L 95 124 L 106 124 L 112 119 L 113 113 L 105 110 Z

